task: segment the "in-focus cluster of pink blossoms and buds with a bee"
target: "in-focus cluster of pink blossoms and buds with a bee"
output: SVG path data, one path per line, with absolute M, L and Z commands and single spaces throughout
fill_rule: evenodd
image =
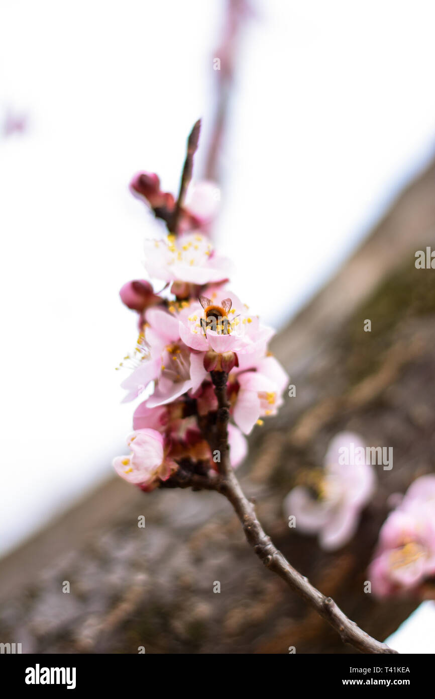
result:
M 161 192 L 154 173 L 139 173 L 131 190 L 157 217 L 170 222 L 172 194 Z M 267 345 L 274 331 L 263 325 L 228 288 L 230 261 L 207 234 L 216 206 L 214 187 L 193 186 L 181 212 L 179 233 L 145 241 L 145 268 L 164 282 L 156 294 L 147 280 L 124 284 L 121 300 L 138 313 L 139 336 L 131 374 L 122 382 L 125 402 L 142 392 L 129 453 L 114 461 L 117 473 L 142 490 L 171 484 L 178 470 L 219 470 L 212 449 L 217 401 L 213 372 L 228 375 L 230 463 L 246 454 L 246 438 L 261 418 L 282 403 L 288 375 Z

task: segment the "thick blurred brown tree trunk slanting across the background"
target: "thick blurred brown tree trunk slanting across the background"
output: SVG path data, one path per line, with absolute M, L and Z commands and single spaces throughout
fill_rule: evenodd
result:
M 274 340 L 297 396 L 256 428 L 241 471 L 275 544 L 378 640 L 419 603 L 380 603 L 363 589 L 388 497 L 435 470 L 435 272 L 414 265 L 416 250 L 435 249 L 434 194 L 432 164 Z M 392 446 L 394 466 L 377 467 L 379 487 L 355 538 L 326 553 L 288 528 L 281 507 L 300 470 L 321 466 L 342 429 Z M 3 559 L 0 572 L 0 637 L 24 652 L 353 651 L 260 565 L 216 493 L 144 495 L 110 481 Z

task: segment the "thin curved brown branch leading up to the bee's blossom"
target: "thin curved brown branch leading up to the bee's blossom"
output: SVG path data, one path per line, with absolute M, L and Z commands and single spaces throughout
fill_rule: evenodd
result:
M 228 419 L 230 417 L 226 396 L 225 372 L 212 371 L 214 392 L 218 401 L 216 422 L 216 444 L 221 451 L 221 479 L 215 481 L 214 488 L 222 493 L 233 505 L 235 513 L 243 526 L 246 540 L 253 547 L 260 561 L 266 568 L 281 577 L 288 586 L 320 614 L 340 635 L 344 643 L 351 644 L 362 653 L 397 653 L 387 644 L 376 641 L 346 617 L 330 597 L 325 597 L 309 580 L 297 572 L 281 552 L 274 546 L 257 519 L 255 508 L 244 495 L 239 481 L 230 467 L 228 448 Z

